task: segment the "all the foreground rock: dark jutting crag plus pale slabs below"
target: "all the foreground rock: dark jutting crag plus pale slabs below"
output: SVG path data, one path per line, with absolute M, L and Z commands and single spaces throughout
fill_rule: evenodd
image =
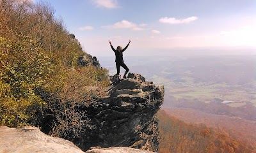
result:
M 79 138 L 71 134 L 66 138 L 69 142 L 45 135 L 38 128 L 1 126 L 0 152 L 157 152 L 156 112 L 163 103 L 163 85 L 156 86 L 139 74 L 129 73 L 127 79 L 109 85 L 106 92 L 108 96 L 77 108 L 94 126 Z M 52 122 L 46 121 L 46 126 Z

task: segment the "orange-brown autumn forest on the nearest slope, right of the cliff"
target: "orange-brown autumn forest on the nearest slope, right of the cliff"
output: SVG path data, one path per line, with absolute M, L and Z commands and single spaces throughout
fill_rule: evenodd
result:
M 189 124 L 160 110 L 159 152 L 255 152 L 253 147 L 231 138 L 226 131 L 208 128 L 202 124 Z

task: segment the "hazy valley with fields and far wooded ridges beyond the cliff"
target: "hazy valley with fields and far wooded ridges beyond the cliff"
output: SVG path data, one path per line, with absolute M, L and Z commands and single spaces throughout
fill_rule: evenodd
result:
M 99 61 L 115 75 L 114 57 Z M 256 148 L 256 55 L 125 57 L 125 64 L 164 85 L 164 112 Z

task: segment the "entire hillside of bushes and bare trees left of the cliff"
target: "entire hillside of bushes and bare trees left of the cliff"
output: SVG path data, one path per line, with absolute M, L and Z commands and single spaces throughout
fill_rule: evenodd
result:
M 77 66 L 86 53 L 47 3 L 0 1 L 0 20 L 0 124 L 42 126 L 51 113 L 53 135 L 92 128 L 74 110 L 105 96 L 108 71 Z

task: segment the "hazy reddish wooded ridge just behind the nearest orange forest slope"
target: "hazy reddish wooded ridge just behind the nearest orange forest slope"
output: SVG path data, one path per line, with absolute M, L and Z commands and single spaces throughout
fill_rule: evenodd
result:
M 225 130 L 225 133 L 236 140 L 256 149 L 255 123 L 239 117 L 228 117 L 211 113 L 200 112 L 188 108 L 167 108 L 164 111 L 177 119 L 190 124 L 202 123 L 212 128 Z

